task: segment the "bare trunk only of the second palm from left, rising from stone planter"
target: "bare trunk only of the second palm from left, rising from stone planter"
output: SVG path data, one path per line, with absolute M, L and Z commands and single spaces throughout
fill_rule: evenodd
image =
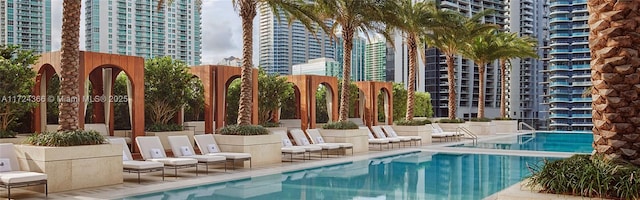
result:
M 253 19 L 256 17 L 256 2 L 242 0 L 240 3 L 240 17 L 242 18 L 242 72 L 240 74 L 240 107 L 238 108 L 238 125 L 251 124 L 251 103 L 253 84 L 251 79 L 251 64 L 253 57 Z M 255 88 L 257 89 L 257 88 Z

